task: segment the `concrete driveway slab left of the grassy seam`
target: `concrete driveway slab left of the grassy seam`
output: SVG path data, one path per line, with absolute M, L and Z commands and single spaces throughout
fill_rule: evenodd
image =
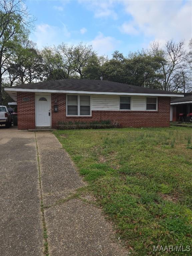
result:
M 35 134 L 0 126 L 0 255 L 43 255 Z

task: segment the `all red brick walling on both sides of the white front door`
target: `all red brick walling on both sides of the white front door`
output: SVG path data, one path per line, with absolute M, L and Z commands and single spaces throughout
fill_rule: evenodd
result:
M 23 102 L 29 97 L 29 102 Z M 55 103 L 57 100 L 57 103 Z M 54 112 L 54 105 L 58 112 Z M 17 93 L 18 129 L 35 128 L 35 95 L 34 93 Z M 91 117 L 66 116 L 66 95 L 51 94 L 51 126 L 56 128 L 58 121 L 90 122 L 100 120 L 118 122 L 122 127 L 168 127 L 170 124 L 170 97 L 158 97 L 158 111 L 114 111 L 92 110 Z

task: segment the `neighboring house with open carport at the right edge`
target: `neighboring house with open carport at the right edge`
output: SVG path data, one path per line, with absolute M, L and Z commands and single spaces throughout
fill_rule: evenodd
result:
M 170 121 L 179 121 L 179 114 L 184 114 L 184 120 L 192 113 L 192 93 L 184 93 L 182 98 L 171 99 Z

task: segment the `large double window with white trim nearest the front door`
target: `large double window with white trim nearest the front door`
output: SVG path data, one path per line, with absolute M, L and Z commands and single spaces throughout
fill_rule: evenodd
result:
M 90 116 L 89 95 L 67 95 L 68 116 Z

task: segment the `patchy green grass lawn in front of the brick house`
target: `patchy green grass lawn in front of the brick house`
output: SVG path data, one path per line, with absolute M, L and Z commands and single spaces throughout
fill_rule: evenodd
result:
M 54 131 L 131 255 L 191 246 L 191 129 Z

